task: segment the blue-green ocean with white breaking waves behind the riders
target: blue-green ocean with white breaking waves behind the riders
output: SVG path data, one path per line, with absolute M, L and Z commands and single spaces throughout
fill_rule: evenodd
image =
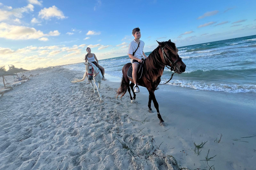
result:
M 168 86 L 227 93 L 256 93 L 256 35 L 177 48 L 186 64 L 186 71 L 174 74 Z M 150 53 L 145 52 L 147 56 Z M 122 78 L 122 67 L 128 62 L 128 55 L 99 60 L 106 75 L 118 78 Z M 64 68 L 85 71 L 83 62 L 66 65 Z M 168 81 L 172 73 L 165 68 L 161 83 Z

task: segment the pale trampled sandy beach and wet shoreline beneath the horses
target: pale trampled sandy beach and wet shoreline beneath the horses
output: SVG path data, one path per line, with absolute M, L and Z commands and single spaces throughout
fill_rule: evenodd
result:
M 105 81 L 100 103 L 83 73 L 39 72 L 0 98 L 0 169 L 255 169 L 255 94 L 160 87 L 161 127 L 144 88 L 131 104 Z

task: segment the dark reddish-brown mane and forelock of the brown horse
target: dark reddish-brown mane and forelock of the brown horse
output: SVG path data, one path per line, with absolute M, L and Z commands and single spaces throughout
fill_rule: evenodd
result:
M 173 42 L 162 42 L 166 48 L 168 48 L 174 55 L 178 53 L 178 49 Z M 146 59 L 146 76 L 152 79 L 152 82 L 155 82 L 159 76 L 162 76 L 164 71 L 165 63 L 163 63 L 161 56 L 159 54 L 160 45 L 154 49 Z

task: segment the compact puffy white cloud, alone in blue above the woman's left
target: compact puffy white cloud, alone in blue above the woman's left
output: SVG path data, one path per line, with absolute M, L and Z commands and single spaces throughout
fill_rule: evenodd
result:
M 59 10 L 56 6 L 42 9 L 41 11 L 39 11 L 38 17 L 46 20 L 53 17 L 56 17 L 57 19 L 67 18 L 64 16 L 63 12 Z

